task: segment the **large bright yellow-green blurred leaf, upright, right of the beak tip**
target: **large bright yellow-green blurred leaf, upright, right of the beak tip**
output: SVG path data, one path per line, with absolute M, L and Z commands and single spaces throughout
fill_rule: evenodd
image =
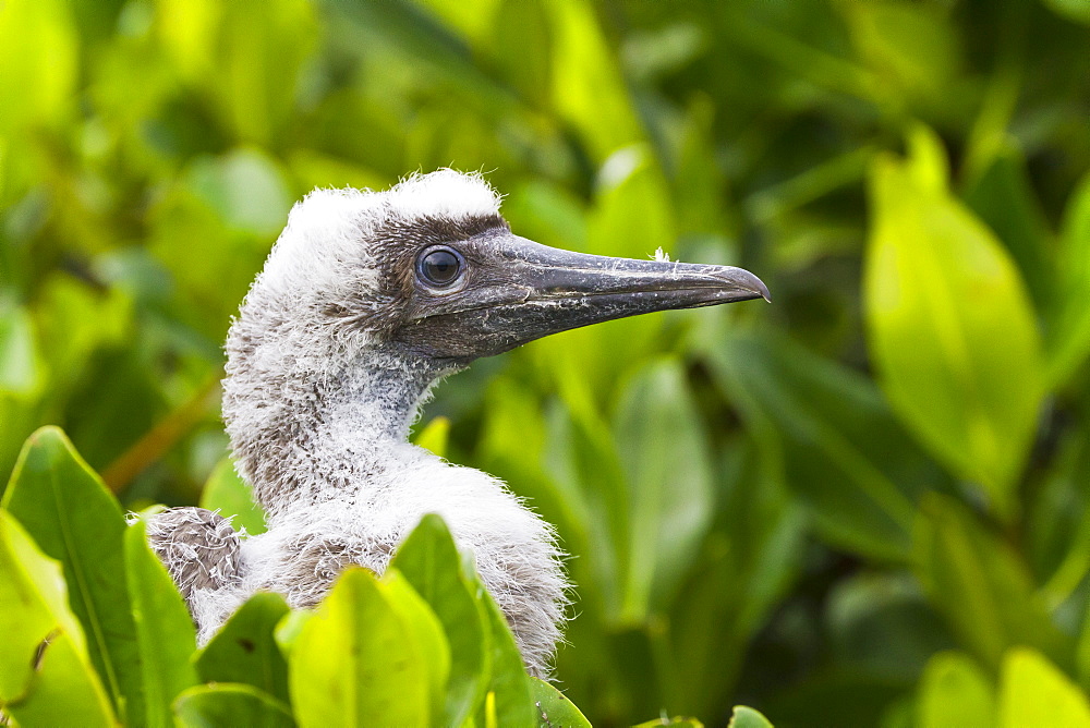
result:
M 1043 393 L 1033 312 L 1006 251 L 938 181 L 938 143 L 913 142 L 909 162 L 872 173 L 871 354 L 913 434 L 1009 519 Z

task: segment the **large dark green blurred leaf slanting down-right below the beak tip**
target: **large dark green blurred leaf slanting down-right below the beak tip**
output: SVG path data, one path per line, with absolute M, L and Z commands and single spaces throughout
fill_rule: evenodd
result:
M 944 478 L 873 384 L 784 337 L 720 339 L 707 353 L 716 381 L 783 461 L 785 482 L 810 506 L 823 538 L 907 560 L 916 500 Z

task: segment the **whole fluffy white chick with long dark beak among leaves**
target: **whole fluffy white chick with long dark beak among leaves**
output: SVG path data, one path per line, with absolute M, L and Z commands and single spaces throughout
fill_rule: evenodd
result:
M 479 175 L 318 190 L 292 209 L 227 340 L 223 418 L 268 530 L 169 509 L 148 539 L 207 641 L 257 590 L 310 607 L 349 565 L 383 573 L 447 522 L 545 677 L 568 586 L 553 529 L 497 478 L 408 441 L 433 385 L 481 356 L 597 321 L 755 298 L 740 268 L 628 260 L 511 233 Z

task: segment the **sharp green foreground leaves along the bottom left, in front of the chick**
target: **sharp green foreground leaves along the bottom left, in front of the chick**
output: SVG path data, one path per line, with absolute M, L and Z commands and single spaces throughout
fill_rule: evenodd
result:
M 313 612 L 258 593 L 197 650 L 143 522 L 56 428 L 0 509 L 0 708 L 22 726 L 590 726 L 525 674 L 437 515 L 380 579 L 350 569 Z

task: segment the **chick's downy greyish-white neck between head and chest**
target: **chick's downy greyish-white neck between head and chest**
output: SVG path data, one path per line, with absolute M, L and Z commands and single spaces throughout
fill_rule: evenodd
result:
M 445 374 L 374 349 L 292 364 L 289 375 L 284 367 L 263 375 L 229 362 L 225 380 L 235 461 L 270 523 L 319 502 L 365 500 L 388 482 L 412 454 L 409 428 Z

